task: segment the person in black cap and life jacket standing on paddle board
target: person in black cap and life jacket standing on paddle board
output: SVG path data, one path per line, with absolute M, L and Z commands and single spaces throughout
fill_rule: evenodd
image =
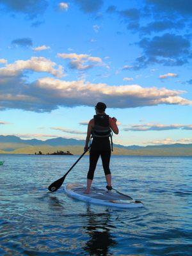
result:
M 108 183 L 106 188 L 109 190 L 112 189 L 109 162 L 111 157 L 111 150 L 113 150 L 112 131 L 115 134 L 118 134 L 118 127 L 116 125 L 116 118 L 111 118 L 110 116 L 106 115 L 106 108 L 106 104 L 103 102 L 98 102 L 95 106 L 96 115 L 94 115 L 93 119 L 90 120 L 88 124 L 86 142 L 84 146 L 85 151 L 88 150 L 90 138 L 93 138 L 93 141 L 90 146 L 90 167 L 87 174 L 87 188 L 85 193 L 90 193 L 90 188 L 92 186 L 93 176 L 99 156 L 102 159 L 102 166 L 104 168 L 106 181 Z M 111 138 L 111 145 L 109 137 Z

